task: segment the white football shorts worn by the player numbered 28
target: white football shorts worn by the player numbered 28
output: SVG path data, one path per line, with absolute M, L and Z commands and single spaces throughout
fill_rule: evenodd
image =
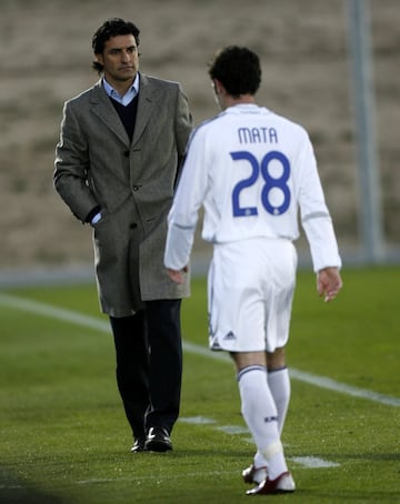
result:
M 214 245 L 208 274 L 210 349 L 273 352 L 284 346 L 296 270 L 297 252 L 288 240 Z

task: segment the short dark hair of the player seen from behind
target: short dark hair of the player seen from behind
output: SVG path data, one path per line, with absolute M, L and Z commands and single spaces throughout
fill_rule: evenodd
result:
M 250 49 L 229 46 L 211 61 L 209 74 L 234 98 L 256 94 L 261 83 L 260 59 Z

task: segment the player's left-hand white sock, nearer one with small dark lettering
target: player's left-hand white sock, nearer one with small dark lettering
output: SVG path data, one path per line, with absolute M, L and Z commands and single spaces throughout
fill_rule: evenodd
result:
M 288 471 L 278 429 L 278 411 L 267 382 L 267 369 L 244 367 L 238 373 L 241 411 L 253 436 L 268 476 L 274 480 Z

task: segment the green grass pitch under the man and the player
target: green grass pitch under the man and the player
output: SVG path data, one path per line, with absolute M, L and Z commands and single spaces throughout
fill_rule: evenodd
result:
M 314 281 L 298 274 L 287 350 L 293 380 L 282 441 L 297 491 L 253 498 L 400 502 L 400 268 L 344 270 L 330 304 Z M 182 407 L 167 454 L 130 453 L 93 285 L 3 290 L 0 321 L 1 503 L 251 498 L 240 474 L 254 446 L 233 366 L 208 351 L 203 279 L 183 302 Z

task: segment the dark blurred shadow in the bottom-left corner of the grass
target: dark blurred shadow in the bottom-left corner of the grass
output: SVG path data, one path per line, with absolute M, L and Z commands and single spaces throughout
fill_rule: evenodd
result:
M 61 497 L 42 493 L 18 480 L 10 471 L 0 466 L 0 502 L 12 504 L 64 504 Z

